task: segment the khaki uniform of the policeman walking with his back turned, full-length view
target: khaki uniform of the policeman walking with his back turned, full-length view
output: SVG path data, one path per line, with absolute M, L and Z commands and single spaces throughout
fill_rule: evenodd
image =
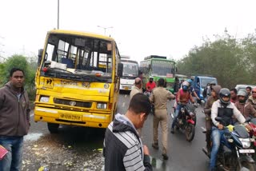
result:
M 167 116 L 167 100 L 174 98 L 174 94 L 163 87 L 153 89 L 150 101 L 154 102 L 154 119 L 153 119 L 153 136 L 154 144 L 158 145 L 158 125 L 160 122 L 162 129 L 162 153 L 167 153 L 167 137 L 168 137 L 168 116 Z

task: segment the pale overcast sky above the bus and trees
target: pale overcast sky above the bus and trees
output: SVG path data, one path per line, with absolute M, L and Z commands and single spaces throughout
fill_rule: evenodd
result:
M 254 0 L 59 0 L 59 29 L 106 34 L 121 55 L 180 60 L 203 40 L 256 29 Z M 58 0 L 1 0 L 0 56 L 37 56 L 58 27 Z M 106 28 L 106 29 L 104 29 Z

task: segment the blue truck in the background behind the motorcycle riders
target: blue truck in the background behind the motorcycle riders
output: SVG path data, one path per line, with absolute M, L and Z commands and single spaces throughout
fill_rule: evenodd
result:
M 198 94 L 200 101 L 204 100 L 202 93 L 208 83 L 215 82 L 216 85 L 218 85 L 217 78 L 211 76 L 196 75 L 192 76 L 191 78 L 194 78 L 192 85 L 194 86 L 194 90 Z

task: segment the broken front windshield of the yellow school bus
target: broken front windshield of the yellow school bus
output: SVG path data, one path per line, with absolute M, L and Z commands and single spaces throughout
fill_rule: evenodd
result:
M 50 34 L 41 73 L 86 82 L 112 81 L 110 41 L 70 34 Z

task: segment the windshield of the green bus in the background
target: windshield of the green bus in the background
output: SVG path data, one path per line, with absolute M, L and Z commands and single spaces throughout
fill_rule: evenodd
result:
M 158 76 L 166 76 L 166 74 L 174 74 L 174 62 L 152 60 L 152 74 Z

